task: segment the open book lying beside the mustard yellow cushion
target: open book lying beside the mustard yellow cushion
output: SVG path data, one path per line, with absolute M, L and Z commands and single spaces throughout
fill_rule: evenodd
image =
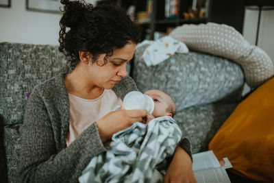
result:
M 213 151 L 205 151 L 192 155 L 192 169 L 198 183 L 228 183 L 229 177 L 225 169 L 232 168 L 227 158 L 223 158 L 225 165 L 221 167 Z

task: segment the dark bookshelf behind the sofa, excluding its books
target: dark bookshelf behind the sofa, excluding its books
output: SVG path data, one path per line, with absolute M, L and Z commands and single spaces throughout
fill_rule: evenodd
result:
M 147 2 L 149 0 L 105 0 L 105 1 L 116 1 L 125 10 L 129 8 L 129 5 L 134 5 L 137 12 L 147 11 Z M 242 6 L 244 0 L 206 0 L 203 4 L 206 8 L 206 17 L 197 19 L 182 19 L 183 13 L 188 12 L 189 8 L 192 7 L 192 0 L 178 0 L 178 16 L 175 19 L 164 19 L 165 16 L 165 0 L 152 0 L 151 16 L 149 22 L 139 23 L 142 27 L 143 35 L 147 35 L 146 38 L 153 40 L 154 32 L 165 32 L 166 28 L 176 27 L 184 23 L 223 23 L 230 25 L 242 32 L 242 24 L 244 17 L 244 7 Z M 232 12 L 234 12 L 232 14 Z M 144 36 L 145 38 L 145 36 Z

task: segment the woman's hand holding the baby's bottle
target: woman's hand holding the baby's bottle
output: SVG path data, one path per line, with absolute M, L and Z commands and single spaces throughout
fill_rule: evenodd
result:
M 116 132 L 130 127 L 137 121 L 142 121 L 142 117 L 147 115 L 147 110 L 125 110 L 123 107 L 112 111 L 99 119 L 96 124 L 99 130 L 101 141 L 108 141 Z

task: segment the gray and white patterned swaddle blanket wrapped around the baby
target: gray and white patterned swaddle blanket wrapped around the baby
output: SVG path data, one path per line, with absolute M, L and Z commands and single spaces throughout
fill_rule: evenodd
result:
M 182 132 L 171 117 L 136 122 L 112 136 L 108 151 L 92 158 L 79 182 L 162 182 L 167 158 L 173 156 Z

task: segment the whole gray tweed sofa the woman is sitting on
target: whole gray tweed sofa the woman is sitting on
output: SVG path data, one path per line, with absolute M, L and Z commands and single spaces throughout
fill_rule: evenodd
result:
M 175 53 L 146 66 L 143 44 L 128 71 L 140 91 L 157 88 L 175 100 L 175 120 L 192 144 L 192 153 L 206 151 L 210 140 L 238 105 L 245 84 L 240 64 L 202 51 Z M 17 182 L 20 127 L 34 86 L 68 70 L 58 46 L 0 43 L 0 180 Z

